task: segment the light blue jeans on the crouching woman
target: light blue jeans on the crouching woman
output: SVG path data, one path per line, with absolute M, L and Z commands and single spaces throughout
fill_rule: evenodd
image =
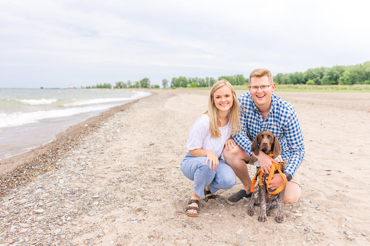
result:
M 204 197 L 203 190 L 209 186 L 212 194 L 219 189 L 228 190 L 236 184 L 236 175 L 232 168 L 220 157 L 216 170 L 209 169 L 206 156 L 194 157 L 187 154 L 181 162 L 181 171 L 194 181 L 194 192 Z

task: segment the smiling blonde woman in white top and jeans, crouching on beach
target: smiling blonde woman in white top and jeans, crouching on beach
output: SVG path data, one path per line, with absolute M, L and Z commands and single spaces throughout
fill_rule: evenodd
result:
M 240 131 L 239 103 L 232 85 L 225 79 L 213 84 L 208 106 L 192 124 L 186 142 L 187 154 L 181 162 L 181 171 L 194 181 L 186 214 L 198 216 L 199 197 L 205 201 L 216 198 L 219 189 L 230 189 L 236 184 L 232 168 L 221 158 L 223 147 L 231 148 L 230 138 Z

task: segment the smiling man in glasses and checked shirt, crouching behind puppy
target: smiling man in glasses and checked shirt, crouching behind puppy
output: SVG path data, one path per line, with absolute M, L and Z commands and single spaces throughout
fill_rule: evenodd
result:
M 259 152 L 258 156 L 250 149 L 253 139 L 261 131 L 270 131 L 279 139 L 281 156 L 286 164 L 283 172 L 285 177 L 285 203 L 297 202 L 300 197 L 299 174 L 296 172 L 305 155 L 302 131 L 293 106 L 285 100 L 273 95 L 275 84 L 269 70 L 255 69 L 249 76 L 249 93 L 238 97 L 240 102 L 240 121 L 242 129 L 239 135 L 232 136 L 236 145 L 223 149 L 225 162 L 234 170 L 242 181 L 243 189 L 231 195 L 226 201 L 234 205 L 243 197 L 250 197 L 252 180 L 248 174 L 247 164 L 253 165 L 257 160 L 263 173 L 270 173 L 271 157 Z M 230 145 L 229 145 L 230 146 Z M 276 189 L 283 184 L 280 174 L 274 174 L 269 188 Z

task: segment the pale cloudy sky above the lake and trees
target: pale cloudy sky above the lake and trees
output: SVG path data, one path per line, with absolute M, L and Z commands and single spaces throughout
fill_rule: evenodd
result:
M 0 1 L 0 87 L 277 73 L 370 60 L 370 1 Z

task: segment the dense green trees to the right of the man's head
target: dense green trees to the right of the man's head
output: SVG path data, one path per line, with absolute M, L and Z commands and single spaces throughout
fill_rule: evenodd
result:
M 370 62 L 353 66 L 317 67 L 304 73 L 278 73 L 276 84 L 370 84 Z

